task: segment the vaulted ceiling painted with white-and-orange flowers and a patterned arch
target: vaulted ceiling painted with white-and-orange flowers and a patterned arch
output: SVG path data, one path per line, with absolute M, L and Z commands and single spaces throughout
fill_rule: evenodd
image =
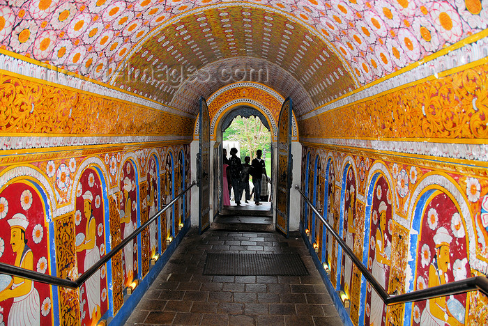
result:
M 485 2 L 4 0 L 0 44 L 192 114 L 222 70 L 262 68 L 301 115 L 482 31 Z

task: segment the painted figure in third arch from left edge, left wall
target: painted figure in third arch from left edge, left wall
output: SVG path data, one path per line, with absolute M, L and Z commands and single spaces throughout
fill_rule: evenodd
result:
M 123 239 L 127 238 L 134 232 L 134 224 L 132 224 L 132 201 L 130 200 L 129 192 L 132 189 L 130 179 L 125 177 L 123 179 L 123 198 L 125 199 L 125 210 L 121 210 L 121 224 L 123 224 Z M 123 256 L 125 258 L 125 273 L 127 282 L 125 286 L 132 283 L 134 277 L 134 244 L 128 243 L 123 249 Z

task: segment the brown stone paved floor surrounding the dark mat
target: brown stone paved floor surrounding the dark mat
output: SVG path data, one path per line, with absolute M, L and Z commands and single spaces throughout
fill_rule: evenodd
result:
M 306 277 L 203 275 L 206 254 L 294 252 Z M 337 311 L 298 235 L 192 228 L 125 325 L 333 325 Z

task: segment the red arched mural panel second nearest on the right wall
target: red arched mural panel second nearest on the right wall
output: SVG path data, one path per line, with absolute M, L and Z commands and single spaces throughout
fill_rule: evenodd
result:
M 388 289 L 392 242 L 392 195 L 388 182 L 381 176 L 376 180 L 369 222 L 368 270 L 379 284 Z M 385 304 L 367 284 L 365 325 L 385 325 Z

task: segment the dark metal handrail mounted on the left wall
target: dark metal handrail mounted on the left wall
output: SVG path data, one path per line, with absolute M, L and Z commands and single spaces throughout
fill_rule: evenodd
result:
M 34 272 L 33 270 L 26 270 L 25 268 L 22 267 L 17 267 L 13 265 L 8 265 L 6 263 L 0 263 L 0 273 L 2 274 L 9 274 L 13 275 L 15 277 L 22 277 L 23 279 L 31 279 L 33 281 L 38 281 L 40 283 L 45 283 L 45 284 L 51 284 L 55 286 L 62 286 L 64 288 L 79 288 L 79 286 L 82 286 L 84 282 L 89 279 L 95 272 L 105 265 L 115 254 L 117 254 L 121 249 L 125 247 L 126 244 L 128 244 L 130 241 L 134 240 L 134 238 L 139 235 L 139 233 L 144 230 L 149 224 L 155 221 L 158 217 L 162 215 L 162 213 L 166 212 L 168 208 L 171 207 L 178 199 L 180 199 L 185 192 L 188 192 L 191 187 L 194 185 L 197 185 L 196 181 L 193 181 L 188 187 L 186 187 L 183 192 L 178 194 L 178 196 L 174 197 L 172 201 L 167 203 L 162 210 L 157 212 L 153 217 L 148 219 L 142 226 L 139 226 L 139 228 L 136 228 L 134 232 L 130 233 L 130 235 L 122 240 L 121 243 L 117 244 L 112 250 L 110 250 L 105 256 L 100 258 L 100 260 L 92 265 L 88 270 L 86 270 L 76 281 L 72 281 L 70 279 L 61 279 L 61 277 L 54 277 L 52 275 L 46 275 L 43 273 L 39 272 Z

